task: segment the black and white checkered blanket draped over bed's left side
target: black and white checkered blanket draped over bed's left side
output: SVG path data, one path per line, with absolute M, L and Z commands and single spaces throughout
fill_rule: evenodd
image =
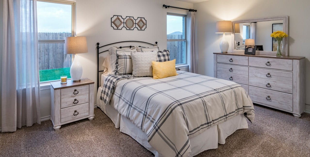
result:
M 115 85 L 118 81 L 131 78 L 131 75 L 114 75 L 109 74 L 104 80 L 103 88 L 101 90 L 100 100 L 106 105 L 110 103 L 111 97 L 114 93 Z

